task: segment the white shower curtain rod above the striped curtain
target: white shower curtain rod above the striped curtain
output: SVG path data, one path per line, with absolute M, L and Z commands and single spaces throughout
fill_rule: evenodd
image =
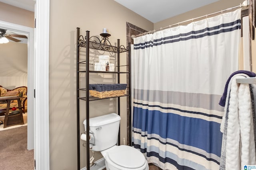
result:
M 245 3 L 246 2 L 246 3 Z M 131 38 L 133 39 L 134 37 L 140 37 L 142 35 L 146 35 L 146 34 L 150 34 L 150 33 L 154 33 L 156 31 L 159 31 L 159 30 L 162 30 L 162 29 L 167 29 L 167 28 L 170 28 L 170 27 L 173 27 L 175 25 L 180 25 L 182 23 L 186 23 L 186 22 L 190 22 L 190 21 L 193 21 L 193 20 L 197 20 L 197 19 L 200 19 L 200 18 L 204 18 L 204 17 L 208 17 L 208 16 L 211 16 L 211 15 L 214 15 L 214 14 L 218 14 L 218 13 L 222 13 L 222 12 L 226 12 L 226 11 L 229 11 L 229 10 L 233 10 L 235 8 L 242 8 L 242 6 L 248 6 L 248 0 L 245 0 L 243 4 L 240 4 L 238 6 L 234 6 L 232 8 L 227 8 L 226 10 L 221 10 L 221 11 L 218 11 L 218 12 L 214 12 L 212 14 L 208 14 L 208 15 L 205 15 L 205 16 L 200 16 L 200 17 L 197 17 L 197 18 L 192 18 L 190 20 L 186 20 L 186 21 L 182 21 L 182 22 L 178 22 L 178 23 L 175 23 L 175 24 L 172 24 L 172 25 L 169 25 L 169 26 L 166 26 L 166 27 L 161 27 L 161 28 L 158 28 L 158 29 L 154 29 L 152 31 L 148 31 L 148 32 L 144 32 L 144 33 L 140 33 L 138 35 L 132 35 Z

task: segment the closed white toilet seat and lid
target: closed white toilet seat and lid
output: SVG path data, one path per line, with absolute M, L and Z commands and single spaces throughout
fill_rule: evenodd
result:
M 148 166 L 146 158 L 139 150 L 126 145 L 110 150 L 105 159 L 109 166 L 120 170 L 145 170 Z

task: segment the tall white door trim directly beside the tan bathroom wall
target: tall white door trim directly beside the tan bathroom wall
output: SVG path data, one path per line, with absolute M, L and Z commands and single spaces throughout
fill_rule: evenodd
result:
M 36 170 L 50 169 L 49 29 L 50 0 L 36 0 L 35 28 L 35 150 Z

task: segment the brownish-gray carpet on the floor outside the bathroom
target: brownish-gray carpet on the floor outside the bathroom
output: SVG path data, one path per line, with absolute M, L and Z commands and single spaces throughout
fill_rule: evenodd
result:
M 34 150 L 27 150 L 27 126 L 0 131 L 0 170 L 34 170 Z

